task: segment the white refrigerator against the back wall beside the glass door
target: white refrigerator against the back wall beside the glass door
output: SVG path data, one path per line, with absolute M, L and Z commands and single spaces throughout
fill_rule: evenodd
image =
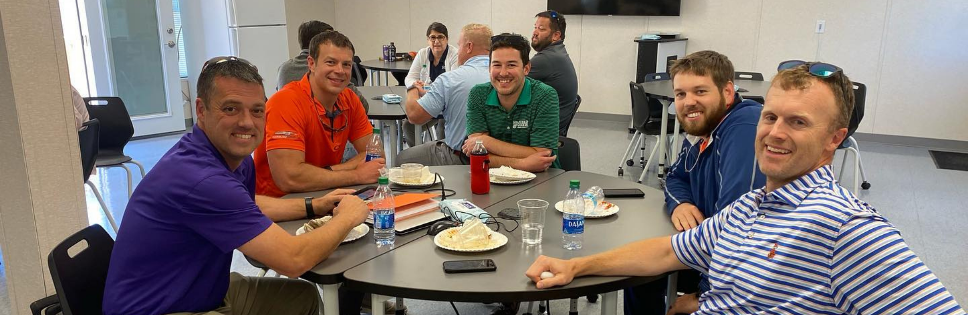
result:
M 276 93 L 279 65 L 289 59 L 285 0 L 226 0 L 231 54 L 262 75 L 265 97 Z

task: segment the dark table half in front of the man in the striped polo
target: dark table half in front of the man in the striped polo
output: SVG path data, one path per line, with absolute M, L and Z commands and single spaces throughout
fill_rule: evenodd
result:
M 645 191 L 646 196 L 608 199 L 620 207 L 620 212 L 603 218 L 587 218 L 583 248 L 566 250 L 561 247 L 561 215 L 554 205 L 564 198 L 569 180 L 575 179 L 581 180 L 583 187 L 636 187 Z M 517 201 L 525 198 L 544 199 L 551 204 L 546 215 L 544 237 L 539 245 L 523 244 L 520 227 L 511 233 L 502 230 L 500 233 L 508 237 L 508 243 L 480 253 L 448 251 L 438 248 L 432 237 L 422 237 L 349 269 L 344 273 L 346 283 L 353 290 L 372 293 L 374 305 L 387 297 L 432 301 L 543 301 L 604 293 L 602 314 L 615 314 L 618 311 L 619 290 L 664 276 L 586 276 L 576 278 L 566 286 L 536 289 L 534 283 L 525 277 L 525 271 L 538 255 L 563 259 L 586 256 L 624 243 L 672 235 L 676 230 L 664 211 L 660 190 L 588 172 L 566 172 L 513 198 L 505 198 L 485 208 L 485 211 L 497 215 L 502 209 L 517 208 Z M 513 227 L 513 223 L 511 225 Z M 468 259 L 493 259 L 498 270 L 454 274 L 442 270 L 444 261 Z M 673 278 L 670 282 L 674 281 Z M 374 314 L 382 314 L 382 309 L 374 309 Z

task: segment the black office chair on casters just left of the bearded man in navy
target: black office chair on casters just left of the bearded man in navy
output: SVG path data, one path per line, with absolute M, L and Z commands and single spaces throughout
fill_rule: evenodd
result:
M 664 74 L 664 75 L 663 75 Z M 650 82 L 652 80 L 668 80 L 668 73 L 651 73 L 646 75 L 646 81 Z M 646 139 L 645 135 L 654 136 L 656 141 L 658 141 L 658 134 L 662 130 L 662 104 L 661 101 L 649 98 L 646 95 L 646 91 L 642 89 L 642 85 L 635 82 L 628 82 L 628 88 L 632 99 L 632 127 L 635 129 L 635 133 L 632 135 L 632 140 L 629 141 L 628 147 L 625 148 L 625 154 L 621 156 L 619 161 L 619 177 L 624 175 L 625 166 L 635 165 L 636 153 L 633 151 L 636 144 L 639 144 L 639 150 L 641 155 L 639 157 L 639 164 L 645 167 L 646 160 L 651 159 L 655 154 L 655 149 L 658 146 L 653 146 L 652 152 L 648 158 L 646 158 Z M 666 132 L 672 134 L 676 132 L 676 115 L 668 114 L 666 115 L 667 127 Z M 643 170 L 645 172 L 646 170 Z

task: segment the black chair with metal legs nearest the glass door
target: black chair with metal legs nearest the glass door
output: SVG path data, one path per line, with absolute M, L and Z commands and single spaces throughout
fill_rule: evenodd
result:
M 124 147 L 135 134 L 135 125 L 131 123 L 128 108 L 125 107 L 124 101 L 117 97 L 84 98 L 84 103 L 87 105 L 87 112 L 91 115 L 91 119 L 101 121 L 101 144 L 95 164 L 102 168 L 124 168 L 128 174 L 128 197 L 131 197 L 131 169 L 125 163 L 137 165 L 141 170 L 142 179 L 144 179 L 144 166 L 124 154 Z

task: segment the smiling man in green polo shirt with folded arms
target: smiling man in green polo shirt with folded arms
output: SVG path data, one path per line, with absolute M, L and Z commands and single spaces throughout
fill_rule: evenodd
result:
M 468 139 L 470 155 L 481 140 L 491 167 L 510 166 L 541 172 L 558 161 L 558 92 L 528 77 L 528 40 L 517 34 L 491 38 L 491 82 L 470 89 Z

